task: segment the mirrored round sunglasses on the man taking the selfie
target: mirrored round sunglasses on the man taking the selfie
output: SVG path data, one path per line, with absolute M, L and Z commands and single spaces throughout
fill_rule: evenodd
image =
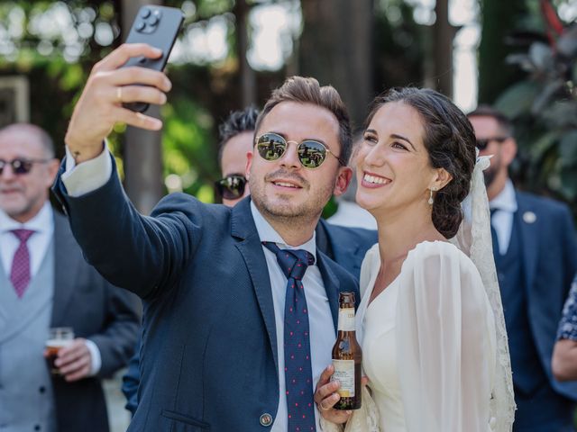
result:
M 277 160 L 285 154 L 289 148 L 289 142 L 297 144 L 297 154 L 300 164 L 308 169 L 318 168 L 325 162 L 326 154 L 330 153 L 337 158 L 341 165 L 346 165 L 341 157 L 336 156 L 331 150 L 315 139 L 305 139 L 300 143 L 288 141 L 277 133 L 264 133 L 256 138 L 256 149 L 264 160 Z

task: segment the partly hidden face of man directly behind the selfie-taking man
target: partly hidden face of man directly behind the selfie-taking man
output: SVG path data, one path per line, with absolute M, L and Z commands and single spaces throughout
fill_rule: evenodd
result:
M 223 177 L 229 177 L 230 175 L 244 176 L 247 160 L 246 155 L 252 151 L 253 135 L 254 133 L 252 131 L 246 131 L 226 141 L 220 166 Z M 223 204 L 228 207 L 233 207 L 234 204 L 240 202 L 249 193 L 249 186 L 246 184 L 244 193 L 241 196 L 234 200 L 223 197 Z

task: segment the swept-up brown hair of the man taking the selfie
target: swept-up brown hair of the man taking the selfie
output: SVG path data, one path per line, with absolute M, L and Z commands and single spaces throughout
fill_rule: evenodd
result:
M 267 114 L 281 102 L 312 103 L 333 113 L 339 123 L 339 143 L 341 152 L 338 155 L 348 163 L 353 148 L 351 138 L 351 122 L 343 99 L 331 85 L 319 85 L 315 78 L 291 76 L 283 85 L 274 90 L 269 100 L 262 108 L 261 115 L 256 121 L 256 130 Z

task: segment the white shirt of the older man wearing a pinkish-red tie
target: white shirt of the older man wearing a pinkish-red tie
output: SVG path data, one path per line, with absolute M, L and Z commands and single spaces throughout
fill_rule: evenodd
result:
M 34 231 L 26 242 L 30 254 L 30 277 L 33 278 L 40 269 L 54 234 L 54 214 L 50 202 L 44 202 L 41 210 L 31 220 L 24 223 L 12 219 L 5 211 L 0 210 L 0 257 L 8 279 L 10 279 L 14 254 L 20 246 L 20 240 L 10 232 L 13 229 L 32 229 Z M 13 289 L 13 287 L 10 288 Z M 87 348 L 90 351 L 92 361 L 89 374 L 96 375 L 102 366 L 102 357 L 93 341 L 87 339 Z

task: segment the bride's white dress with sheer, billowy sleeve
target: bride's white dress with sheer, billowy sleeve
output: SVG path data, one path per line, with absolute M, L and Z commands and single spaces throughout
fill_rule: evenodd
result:
M 356 326 L 374 404 L 363 401 L 345 430 L 490 431 L 495 321 L 471 259 L 447 242 L 420 243 L 369 304 L 379 270 L 375 245 L 362 264 Z

